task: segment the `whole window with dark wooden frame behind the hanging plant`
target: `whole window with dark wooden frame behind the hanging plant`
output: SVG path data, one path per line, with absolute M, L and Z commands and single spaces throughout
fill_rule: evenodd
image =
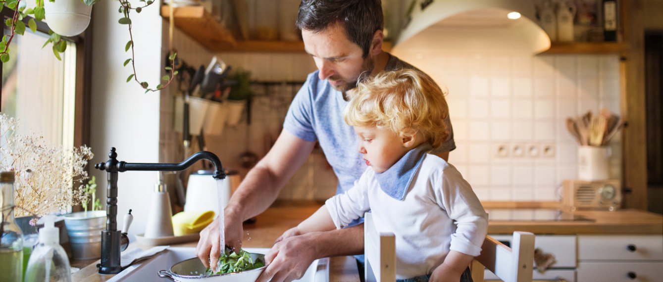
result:
M 13 11 L 3 9 L 1 15 L 7 19 Z M 85 70 L 90 66 L 90 44 L 86 48 L 86 35 L 66 38 L 66 52 L 58 60 L 52 45 L 42 48 L 48 26 L 37 26 L 38 32 L 26 30 L 11 42 L 11 59 L 2 66 L 0 111 L 19 118 L 23 133 L 30 130 L 51 144 L 89 144 L 90 75 Z

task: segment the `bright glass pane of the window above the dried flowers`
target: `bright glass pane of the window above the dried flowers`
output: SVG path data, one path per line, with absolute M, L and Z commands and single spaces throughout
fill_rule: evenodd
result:
M 5 30 L 7 34 L 9 30 Z M 74 146 L 76 44 L 68 42 L 58 60 L 42 32 L 14 36 L 11 59 L 3 65 L 1 111 L 21 120 L 21 130 L 44 136 L 46 142 Z

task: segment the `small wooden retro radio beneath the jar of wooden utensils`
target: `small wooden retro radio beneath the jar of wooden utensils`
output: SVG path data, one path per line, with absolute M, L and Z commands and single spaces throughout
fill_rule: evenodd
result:
M 615 211 L 621 207 L 622 191 L 619 179 L 584 181 L 564 180 L 562 206 L 571 211 L 594 209 Z

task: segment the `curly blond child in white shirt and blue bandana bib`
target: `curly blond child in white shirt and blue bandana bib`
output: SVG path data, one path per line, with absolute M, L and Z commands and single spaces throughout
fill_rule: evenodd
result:
M 328 199 L 286 234 L 343 228 L 372 211 L 377 230 L 396 236 L 399 281 L 471 281 L 488 216 L 469 183 L 426 154 L 446 140 L 442 90 L 415 70 L 384 72 L 357 85 L 345 122 L 369 166 L 346 193 Z M 278 242 L 278 240 L 277 240 Z

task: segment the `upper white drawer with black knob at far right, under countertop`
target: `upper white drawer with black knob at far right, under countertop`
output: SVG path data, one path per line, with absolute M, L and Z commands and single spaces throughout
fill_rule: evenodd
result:
M 578 235 L 578 259 L 663 260 L 663 236 Z

